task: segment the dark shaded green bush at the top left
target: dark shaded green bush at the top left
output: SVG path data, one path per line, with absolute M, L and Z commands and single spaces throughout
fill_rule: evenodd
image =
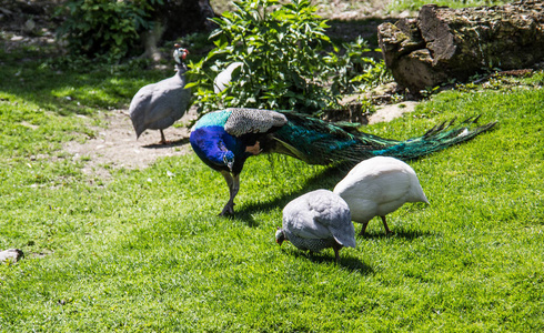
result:
M 154 6 L 163 0 L 70 0 L 58 12 L 67 16 L 58 34 L 72 56 L 119 61 L 140 52 L 140 32 L 152 28 Z

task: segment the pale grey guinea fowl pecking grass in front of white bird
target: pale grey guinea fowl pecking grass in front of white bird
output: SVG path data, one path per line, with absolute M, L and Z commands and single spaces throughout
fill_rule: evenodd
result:
M 355 229 L 347 204 L 329 190 L 316 190 L 294 199 L 283 209 L 282 228 L 275 233 L 278 244 L 285 240 L 302 251 L 319 252 L 332 248 L 339 262 L 340 249 L 355 248 Z

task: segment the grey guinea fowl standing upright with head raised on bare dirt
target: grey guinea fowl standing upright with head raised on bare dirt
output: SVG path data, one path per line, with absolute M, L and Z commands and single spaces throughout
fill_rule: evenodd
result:
M 159 130 L 160 143 L 165 144 L 162 130 L 183 117 L 189 107 L 191 90 L 184 88 L 187 65 L 183 62 L 189 52 L 179 44 L 174 47 L 177 73 L 172 78 L 141 88 L 130 102 L 129 113 L 137 138 L 147 129 Z

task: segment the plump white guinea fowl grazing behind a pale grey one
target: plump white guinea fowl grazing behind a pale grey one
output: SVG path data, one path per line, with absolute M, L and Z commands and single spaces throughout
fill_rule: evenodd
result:
M 385 215 L 405 202 L 429 204 L 415 171 L 409 164 L 386 157 L 359 163 L 336 184 L 333 192 L 345 200 L 352 220 L 363 224 L 361 235 L 374 216 L 382 218 L 385 232 L 390 233 Z

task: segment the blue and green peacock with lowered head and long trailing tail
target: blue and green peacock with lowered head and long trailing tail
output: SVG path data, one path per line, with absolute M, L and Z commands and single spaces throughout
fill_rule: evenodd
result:
M 189 140 L 197 155 L 226 181 L 230 198 L 220 213 L 225 215 L 234 214 L 240 173 L 252 155 L 274 152 L 320 165 L 354 165 L 380 155 L 410 160 L 470 140 L 496 123 L 472 128 L 478 118 L 459 127 L 453 127 L 455 120 L 443 122 L 421 137 L 397 141 L 295 111 L 231 108 L 202 115 Z

